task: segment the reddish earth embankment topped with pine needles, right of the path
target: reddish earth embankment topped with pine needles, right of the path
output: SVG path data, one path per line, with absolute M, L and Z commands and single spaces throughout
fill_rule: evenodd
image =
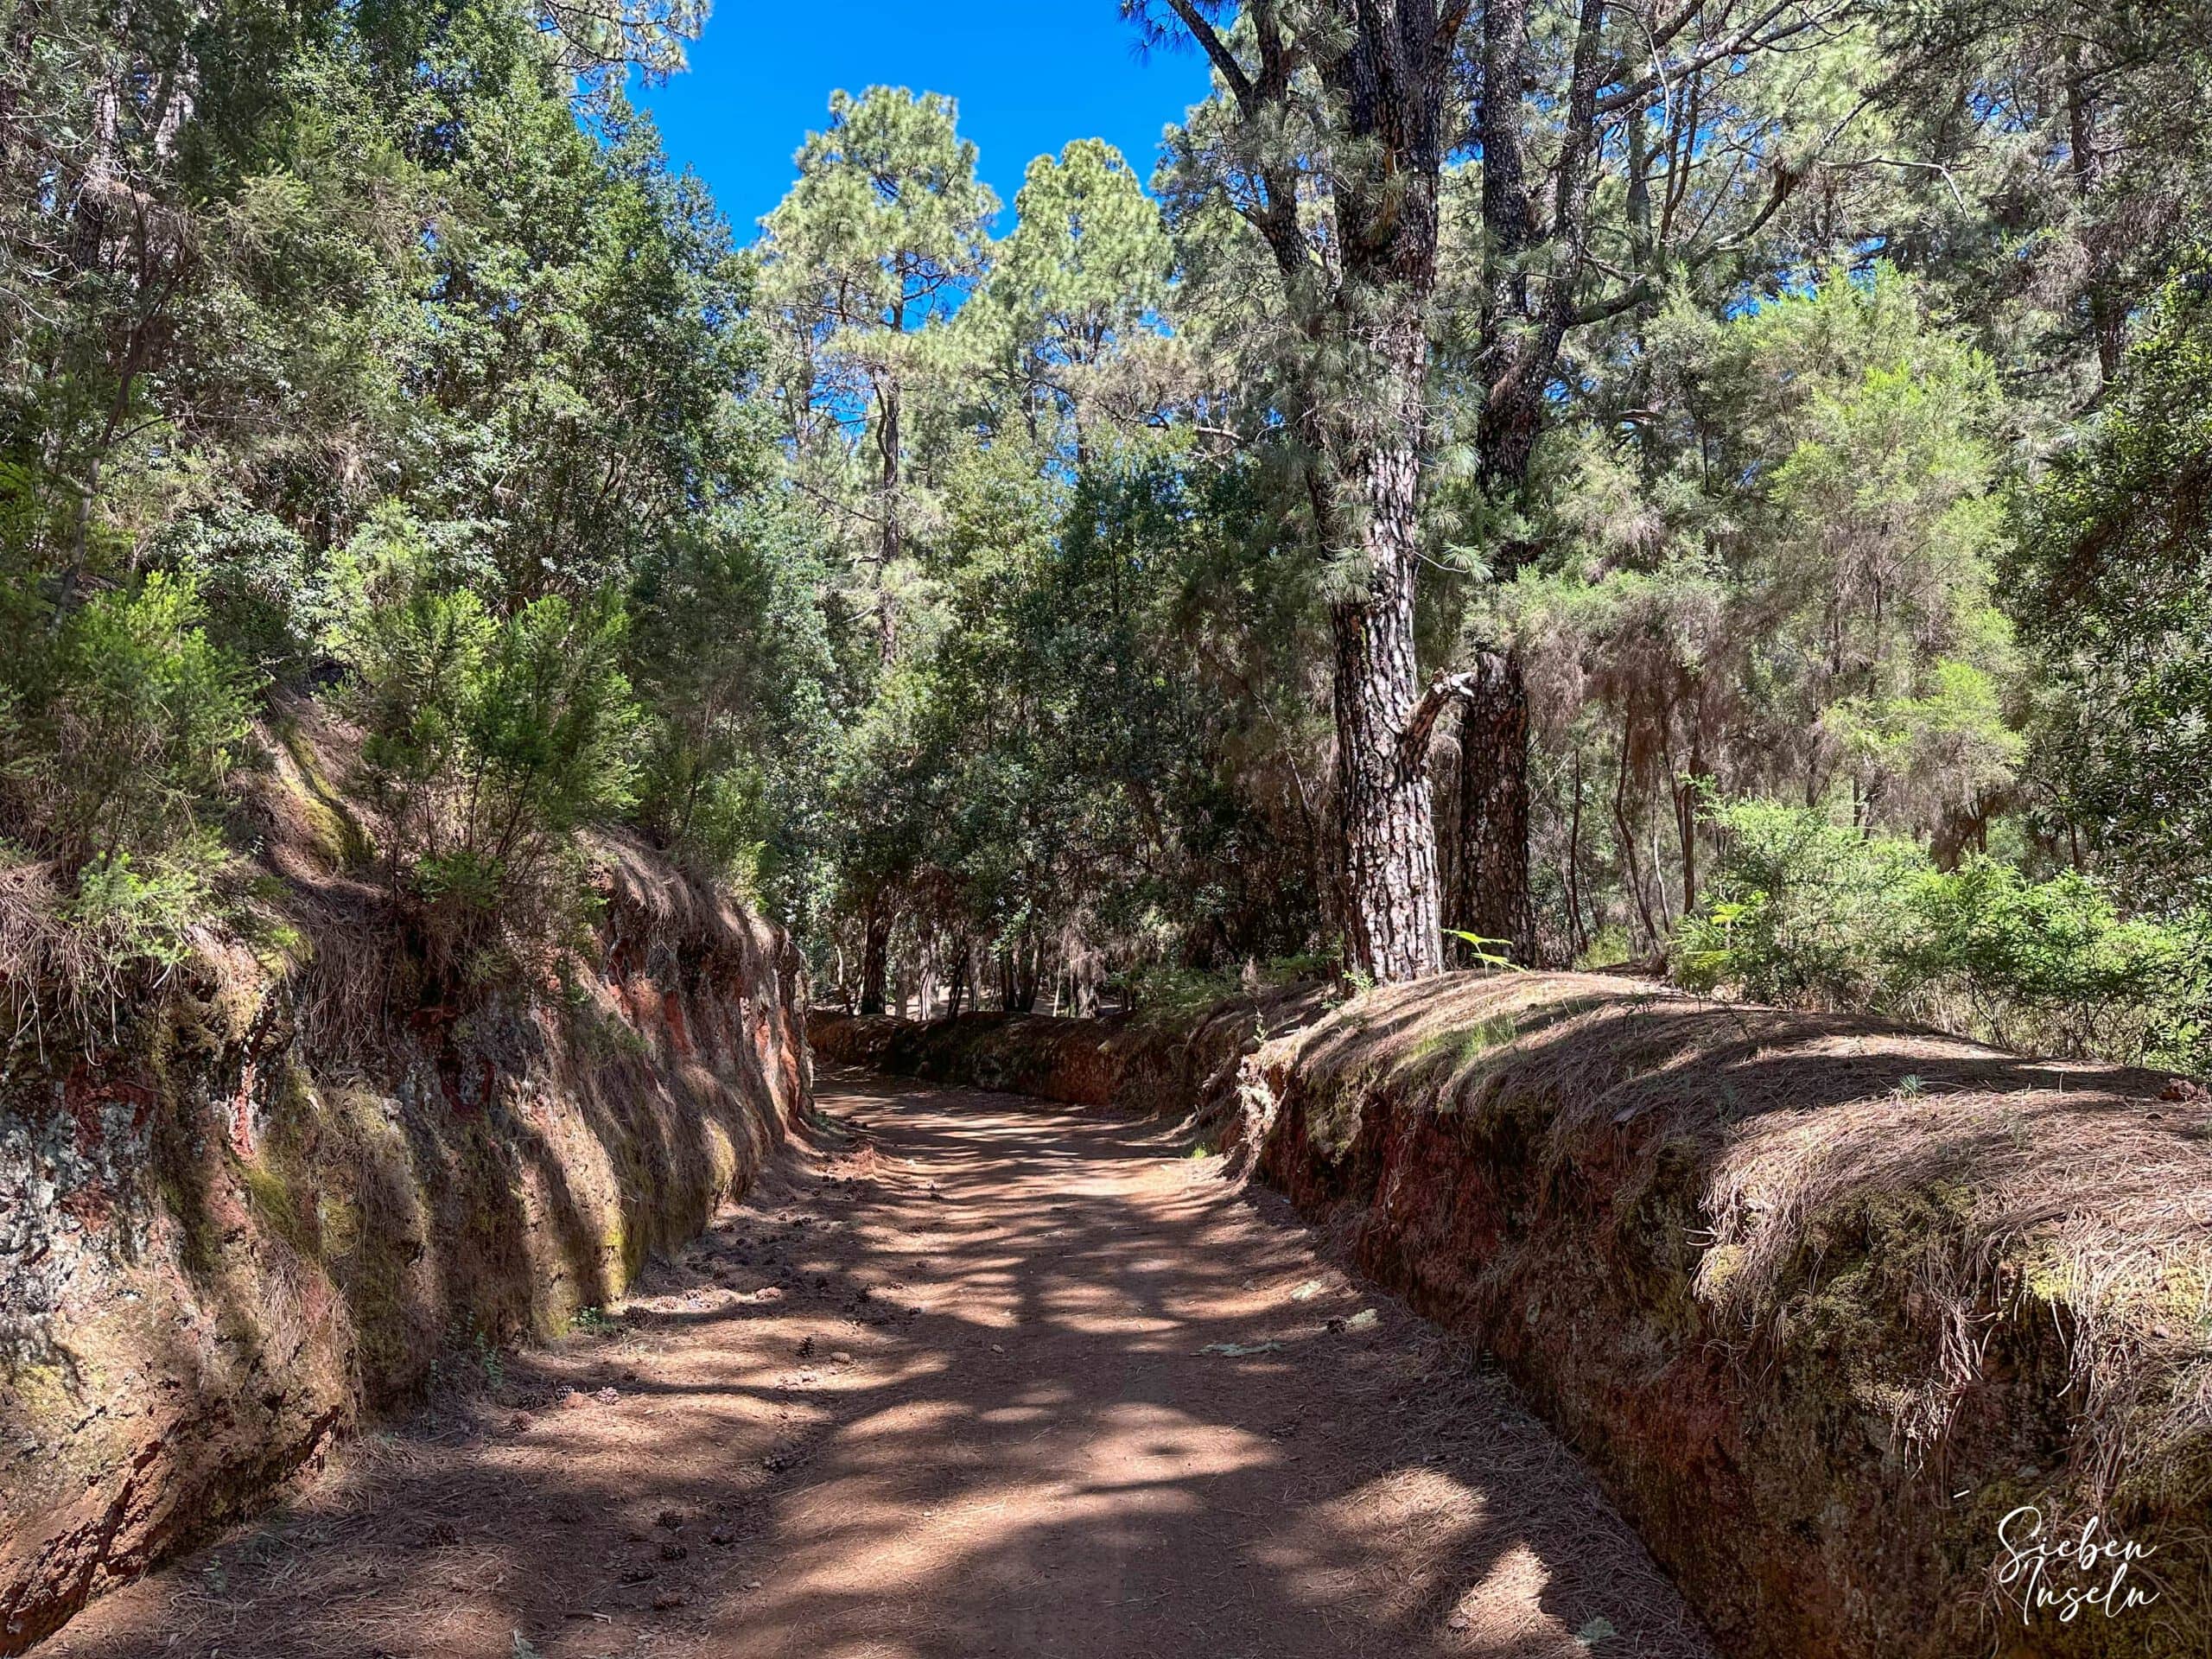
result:
M 1723 1650 L 2212 1652 L 2194 1086 L 1613 978 L 1449 975 L 1265 1044 L 1243 1093 L 1225 1128 L 1263 1175 L 1486 1343 Z M 2154 1553 L 2037 1573 L 2031 1517 L 2046 1546 L 2095 1520 Z M 2119 1566 L 2121 1601 L 2157 1599 L 2013 1599 Z

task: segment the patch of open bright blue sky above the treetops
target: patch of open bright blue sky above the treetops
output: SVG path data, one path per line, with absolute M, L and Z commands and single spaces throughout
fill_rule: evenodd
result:
M 712 186 L 739 237 L 783 199 L 792 153 L 838 86 L 960 100 L 960 131 L 1006 208 L 1033 155 L 1104 137 L 1152 177 L 1159 128 L 1206 95 L 1194 51 L 1137 51 L 1117 0 L 721 0 L 690 71 L 637 91 L 668 159 Z M 1004 232 L 1009 217 L 1000 217 Z

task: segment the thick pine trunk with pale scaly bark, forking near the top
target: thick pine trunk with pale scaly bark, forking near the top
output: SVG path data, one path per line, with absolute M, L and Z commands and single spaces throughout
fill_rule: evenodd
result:
M 1597 0 L 1586 0 L 1597 4 Z M 1305 363 L 1303 422 L 1321 549 L 1354 568 L 1329 606 L 1336 655 L 1336 827 L 1352 964 L 1413 980 L 1442 964 L 1427 734 L 1433 706 L 1413 661 L 1416 507 L 1427 447 L 1425 378 L 1436 294 L 1438 190 L 1467 7 L 1363 0 L 1237 7 L 1243 51 L 1175 0 L 1263 159 L 1239 210 L 1274 252 Z M 1312 71 L 1329 97 L 1334 230 L 1314 259 L 1307 181 L 1279 119 Z M 1418 710 L 1431 710 L 1416 719 Z

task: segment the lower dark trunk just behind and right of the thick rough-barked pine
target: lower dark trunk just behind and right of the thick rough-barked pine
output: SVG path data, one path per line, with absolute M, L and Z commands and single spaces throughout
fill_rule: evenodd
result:
M 1480 933 L 1486 951 L 1535 964 L 1528 907 L 1528 688 L 1520 661 L 1484 681 L 1460 717 L 1460 856 L 1451 927 Z M 1469 951 L 1471 953 L 1471 951 Z

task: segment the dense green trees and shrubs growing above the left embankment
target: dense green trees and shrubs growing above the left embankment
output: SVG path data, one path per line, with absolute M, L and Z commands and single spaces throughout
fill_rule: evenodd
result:
M 0 13 L 11 993 L 212 916 L 254 679 L 356 717 L 319 810 L 365 796 L 449 984 L 573 940 L 593 823 L 772 865 L 821 794 L 807 538 L 743 507 L 752 261 L 615 73 L 703 9 Z

